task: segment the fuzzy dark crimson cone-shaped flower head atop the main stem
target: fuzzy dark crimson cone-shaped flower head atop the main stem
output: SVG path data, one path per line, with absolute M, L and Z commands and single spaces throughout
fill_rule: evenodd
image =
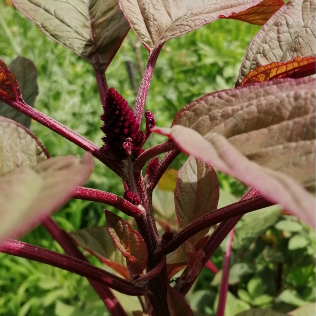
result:
M 114 89 L 106 93 L 101 131 L 106 135 L 101 150 L 116 159 L 137 158 L 143 152 L 143 132 L 127 101 Z

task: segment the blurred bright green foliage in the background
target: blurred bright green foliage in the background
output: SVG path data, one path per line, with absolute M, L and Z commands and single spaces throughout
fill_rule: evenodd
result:
M 31 59 L 38 69 L 40 94 L 35 107 L 102 145 L 102 107 L 90 64 L 49 40 L 11 6 L 0 2 L 0 57 L 7 64 L 17 56 Z M 199 30 L 167 42 L 159 56 L 146 108 L 155 112 L 158 126 L 170 126 L 180 108 L 216 90 L 233 88 L 247 46 L 259 27 L 234 20 L 218 20 Z M 107 82 L 129 104 L 146 65 L 147 51 L 130 32 L 106 71 Z M 52 156 L 82 155 L 82 149 L 54 134 L 37 122 L 31 130 Z M 147 147 L 164 140 L 152 135 Z M 172 167 L 185 161 L 181 154 Z M 221 187 L 241 196 L 246 187 L 221 173 Z M 99 161 L 87 186 L 123 193 L 121 180 Z M 104 205 L 71 200 L 53 217 L 72 231 L 105 223 Z M 109 208 L 112 210 L 112 208 Z M 225 315 L 249 307 L 271 307 L 289 311 L 305 301 L 315 300 L 315 237 L 313 232 L 290 216 L 269 230 L 248 251 L 234 258 Z M 23 238 L 34 245 L 62 252 L 44 228 L 38 227 Z M 244 245 L 245 246 L 245 245 Z M 212 261 L 221 269 L 223 249 Z M 95 258 L 91 262 L 100 265 Z M 280 273 L 282 279 L 279 278 Z M 220 274 L 204 269 L 194 291 L 188 294 L 196 315 L 214 315 Z M 126 300 L 126 298 L 125 298 Z M 0 315 L 107 315 L 103 303 L 86 279 L 67 271 L 0 253 Z

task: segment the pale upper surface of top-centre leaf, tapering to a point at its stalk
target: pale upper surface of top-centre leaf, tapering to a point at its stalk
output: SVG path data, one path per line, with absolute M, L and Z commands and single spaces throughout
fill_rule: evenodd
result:
M 280 1 L 272 8 L 277 10 Z M 236 14 L 258 5 L 267 7 L 273 14 L 270 1 L 263 0 L 196 0 L 196 1 L 137 1 L 119 0 L 119 6 L 130 22 L 133 31 L 149 52 L 153 52 L 167 40 L 195 30 L 218 18 L 230 17 L 249 20 Z

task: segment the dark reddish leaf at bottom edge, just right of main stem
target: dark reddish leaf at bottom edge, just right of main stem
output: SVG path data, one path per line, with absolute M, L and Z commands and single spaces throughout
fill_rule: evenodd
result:
M 171 286 L 168 286 L 167 302 L 170 316 L 194 316 L 190 306 L 186 303 L 184 297 Z

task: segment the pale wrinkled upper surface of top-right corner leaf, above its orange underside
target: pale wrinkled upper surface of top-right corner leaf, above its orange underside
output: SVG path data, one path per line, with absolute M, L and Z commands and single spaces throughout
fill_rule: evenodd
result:
M 250 70 L 296 56 L 315 56 L 315 1 L 291 0 L 260 29 L 250 43 L 236 86 Z

